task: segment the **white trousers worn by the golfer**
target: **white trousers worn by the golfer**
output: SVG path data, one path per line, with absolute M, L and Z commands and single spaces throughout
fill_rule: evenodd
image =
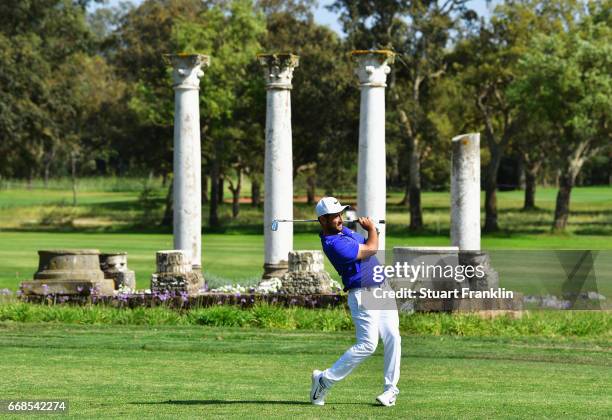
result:
M 399 334 L 399 315 L 395 310 L 367 310 L 362 306 L 369 288 L 351 289 L 348 305 L 355 324 L 356 343 L 350 347 L 332 367 L 323 372 L 323 383 L 333 385 L 344 379 L 368 356 L 376 351 L 379 337 L 382 338 L 385 357 L 384 390 L 392 389 L 399 393 L 397 382 L 400 374 L 401 337 Z

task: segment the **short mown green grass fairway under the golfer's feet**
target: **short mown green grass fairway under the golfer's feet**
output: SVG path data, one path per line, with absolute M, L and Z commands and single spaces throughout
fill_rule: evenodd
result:
M 311 370 L 352 333 L 7 322 L 0 332 L 2 399 L 65 398 L 73 417 L 612 416 L 605 341 L 404 336 L 395 407 L 373 405 L 382 348 L 314 407 Z

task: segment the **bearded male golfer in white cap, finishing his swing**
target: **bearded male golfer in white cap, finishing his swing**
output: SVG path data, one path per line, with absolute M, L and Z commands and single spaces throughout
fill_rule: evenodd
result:
M 373 293 L 380 283 L 374 281 L 373 267 L 380 263 L 376 259 L 378 232 L 374 221 L 360 217 L 358 223 L 368 232 L 366 240 L 357 232 L 342 225 L 342 212 L 348 206 L 341 205 L 334 197 L 322 198 L 316 207 L 321 223 L 323 252 L 342 276 L 344 290 L 348 291 L 348 305 L 355 324 L 356 343 L 350 347 L 334 365 L 324 371 L 312 372 L 310 401 L 315 405 L 325 404 L 325 396 L 331 387 L 346 376 L 376 350 L 379 336 L 384 348 L 384 392 L 376 400 L 385 406 L 395 405 L 399 394 L 397 382 L 400 373 L 401 338 L 397 310 L 366 309 L 363 297 Z

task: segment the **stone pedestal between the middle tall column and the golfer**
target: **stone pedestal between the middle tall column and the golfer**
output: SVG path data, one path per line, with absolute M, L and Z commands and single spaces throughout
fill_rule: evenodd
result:
M 322 251 L 289 252 L 289 271 L 280 279 L 281 293 L 291 295 L 332 293 L 332 278 L 325 271 Z

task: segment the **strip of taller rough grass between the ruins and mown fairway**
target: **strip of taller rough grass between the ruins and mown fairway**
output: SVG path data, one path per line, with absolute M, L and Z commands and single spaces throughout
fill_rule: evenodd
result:
M 104 305 L 38 305 L 0 303 L 0 322 L 61 322 L 88 325 L 203 325 L 209 327 L 276 330 L 351 331 L 345 308 L 306 309 L 257 304 L 249 309 L 213 306 L 177 311 L 154 308 L 114 308 Z M 400 316 L 400 331 L 407 335 L 465 337 L 589 337 L 612 339 L 612 316 L 600 311 L 536 311 L 522 317 L 483 318 L 469 313 L 417 313 Z

